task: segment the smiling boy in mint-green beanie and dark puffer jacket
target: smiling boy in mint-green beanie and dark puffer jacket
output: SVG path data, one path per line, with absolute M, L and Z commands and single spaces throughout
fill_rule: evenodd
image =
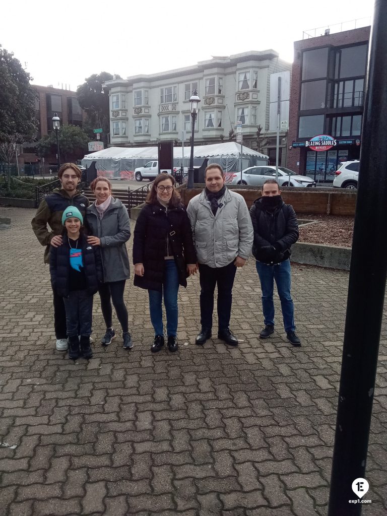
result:
M 69 358 L 76 360 L 82 355 L 89 359 L 93 356 L 90 347 L 93 295 L 102 280 L 100 250 L 87 244 L 83 216 L 76 206 L 63 211 L 62 224 L 63 244 L 52 247 L 50 253 L 51 283 L 65 303 Z

